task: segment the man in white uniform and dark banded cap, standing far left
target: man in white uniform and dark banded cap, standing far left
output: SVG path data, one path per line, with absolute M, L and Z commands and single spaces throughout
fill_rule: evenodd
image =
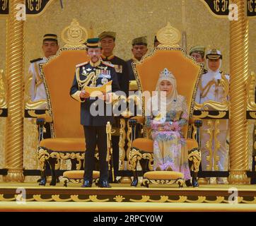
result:
M 38 58 L 30 61 L 30 67 L 28 69 L 28 75 L 32 76 L 30 85 L 30 100 L 36 102 L 38 100 L 47 100 L 45 92 L 45 85 L 40 76 L 39 64 L 45 63 L 49 57 L 55 55 L 59 49 L 57 35 L 46 34 L 42 41 L 42 52 L 45 57 Z M 46 109 L 47 105 L 40 105 L 37 109 Z

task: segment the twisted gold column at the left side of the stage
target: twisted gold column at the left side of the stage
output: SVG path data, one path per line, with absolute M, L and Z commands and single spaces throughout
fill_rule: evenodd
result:
M 8 118 L 6 121 L 5 182 L 23 182 L 23 20 L 16 20 L 17 4 L 23 0 L 9 1 L 6 38 L 6 79 L 8 83 Z

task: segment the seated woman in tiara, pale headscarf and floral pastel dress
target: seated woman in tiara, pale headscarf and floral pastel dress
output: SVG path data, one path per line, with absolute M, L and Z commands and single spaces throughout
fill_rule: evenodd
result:
M 176 79 L 168 69 L 161 71 L 154 94 L 146 112 L 146 126 L 153 138 L 153 169 L 182 172 L 190 186 L 187 145 L 182 136 L 187 104 L 185 97 L 178 95 Z

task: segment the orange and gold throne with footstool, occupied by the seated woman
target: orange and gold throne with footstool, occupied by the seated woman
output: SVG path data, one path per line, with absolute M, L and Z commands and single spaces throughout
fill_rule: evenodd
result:
M 173 34 L 168 36 L 168 34 Z M 201 162 L 199 145 L 197 143 L 197 132 L 202 121 L 193 119 L 194 98 L 197 92 L 197 85 L 202 75 L 203 66 L 197 64 L 194 59 L 188 57 L 187 54 L 176 44 L 179 41 L 179 32 L 172 28 L 169 24 L 158 32 L 158 45 L 152 52 L 147 54 L 141 61 L 133 64 L 134 74 L 139 86 L 139 90 L 152 91 L 156 88 L 158 76 L 163 69 L 167 68 L 171 71 L 177 80 L 178 94 L 186 97 L 190 123 L 182 130 L 186 139 L 187 149 L 189 151 L 189 163 L 192 174 L 193 186 L 198 186 L 197 172 Z M 144 126 L 144 138 L 135 138 L 132 141 L 132 148 L 129 155 L 129 164 L 131 165 L 134 179 L 132 186 L 138 184 L 138 175 L 136 172 L 137 163 L 140 162 L 144 179 L 141 185 L 149 186 L 149 184 L 173 184 L 177 182 L 179 186 L 183 186 L 183 175 L 179 172 L 172 171 L 152 171 L 153 170 L 153 141 L 149 137 L 149 131 L 146 130 L 145 122 L 145 100 L 142 100 L 142 116 L 132 117 L 129 120 L 133 130 L 136 124 Z M 135 134 L 135 133 L 134 133 Z M 150 170 L 148 172 L 148 169 Z

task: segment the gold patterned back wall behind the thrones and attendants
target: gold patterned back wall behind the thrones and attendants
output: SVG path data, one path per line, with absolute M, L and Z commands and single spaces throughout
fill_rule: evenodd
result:
M 167 22 L 173 27 L 182 28 L 182 0 L 63 0 L 64 9 L 59 1 L 54 1 L 47 11 L 37 18 L 25 21 L 25 76 L 29 61 L 42 57 L 42 36 L 45 33 L 56 33 L 61 36 L 62 29 L 69 25 L 73 18 L 85 28 L 93 25 L 95 35 L 104 30 L 117 32 L 115 54 L 129 59 L 131 42 L 134 37 L 148 36 L 149 49 L 153 48 L 153 37 Z M 229 21 L 214 18 L 199 0 L 186 0 L 187 47 L 203 44 L 206 47 L 217 47 L 223 53 L 223 70 L 229 71 Z M 249 69 L 256 71 L 256 20 L 250 20 L 249 33 Z M 0 68 L 5 68 L 6 20 L 0 20 Z M 60 46 L 64 43 L 60 40 Z M 1 119 L 0 126 L 4 126 Z M 2 128 L 1 127 L 1 128 Z M 0 128 L 0 129 L 1 129 Z M 35 168 L 35 142 L 28 134 L 35 134 L 35 125 L 25 119 L 24 165 Z M 3 138 L 0 131 L 0 139 Z M 35 138 L 35 136 L 33 136 Z M 0 167 L 3 162 L 4 147 L 0 140 Z M 32 158 L 30 158 L 32 157 Z

